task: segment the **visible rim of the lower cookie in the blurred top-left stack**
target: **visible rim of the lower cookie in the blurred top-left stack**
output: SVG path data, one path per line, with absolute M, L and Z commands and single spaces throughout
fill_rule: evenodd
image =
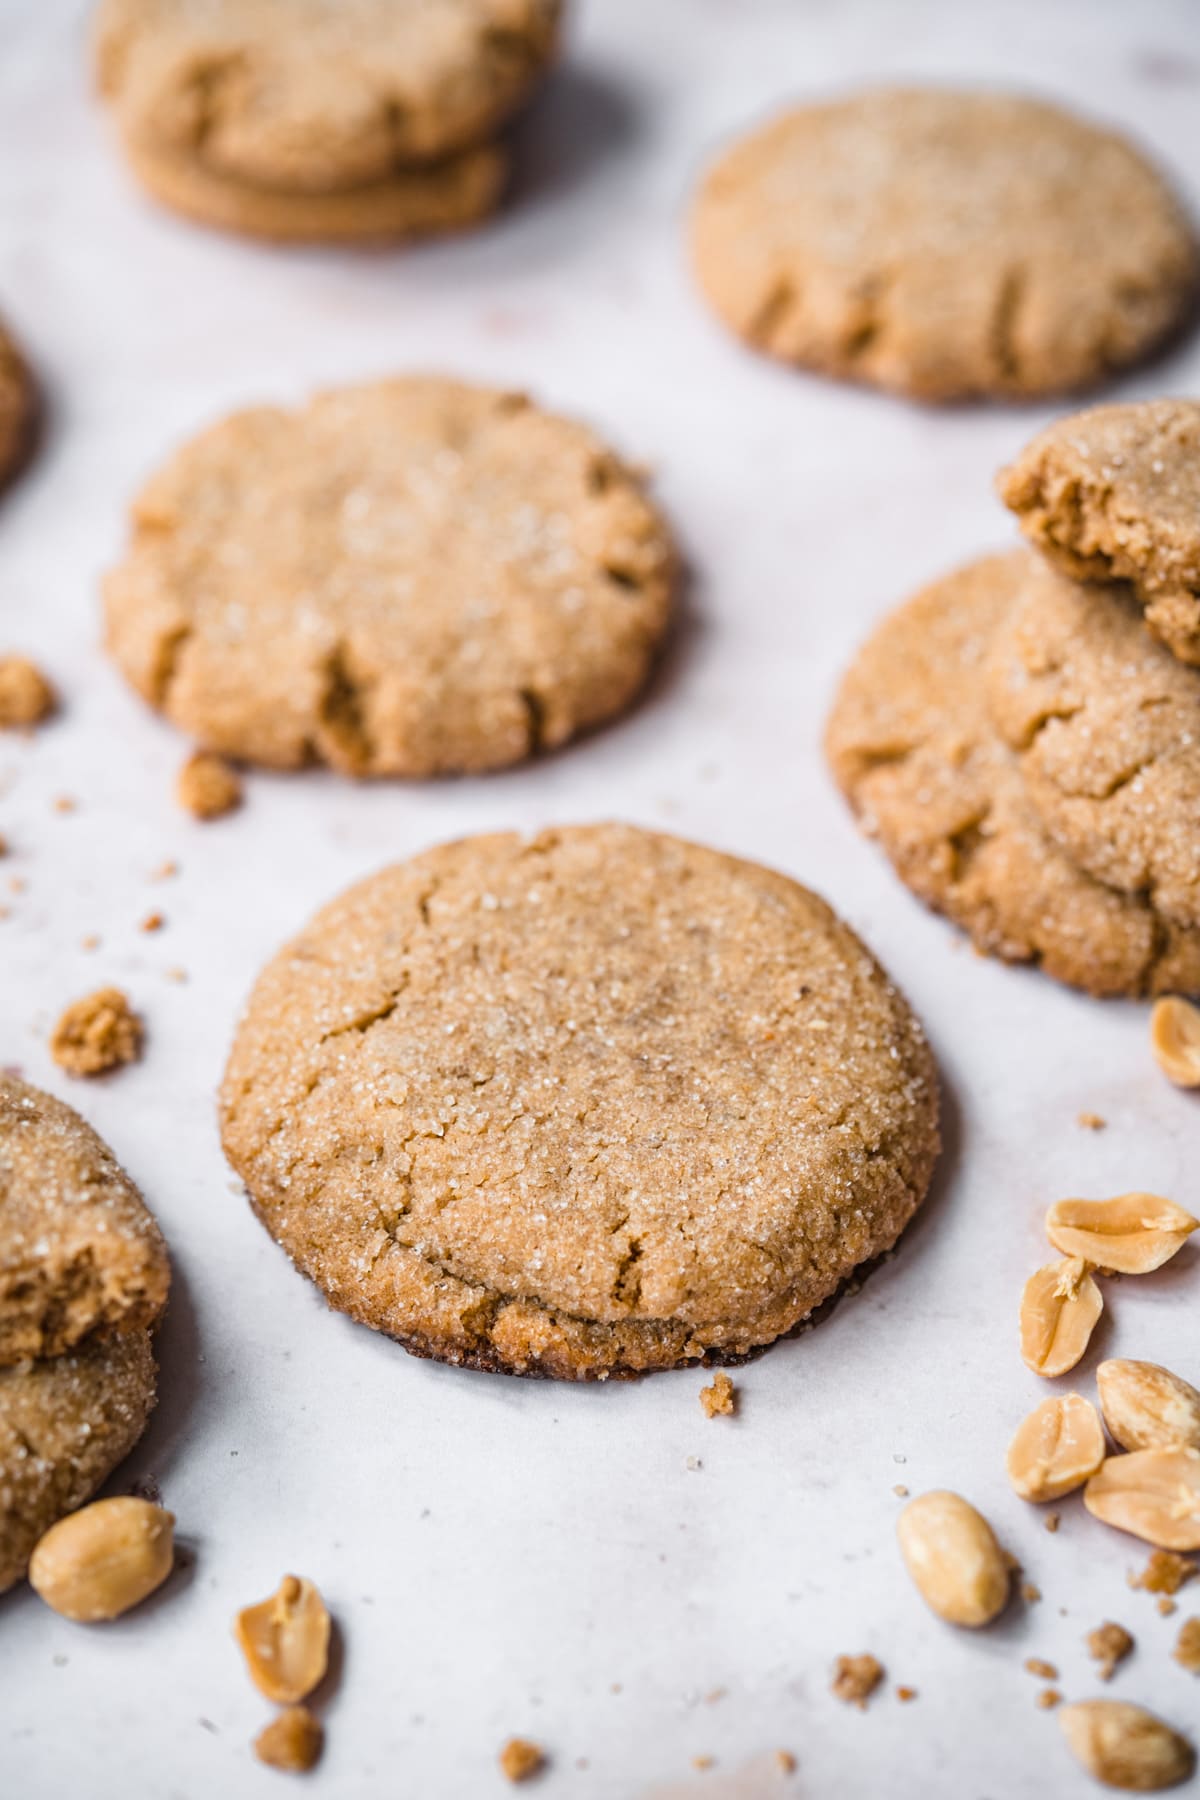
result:
M 266 243 L 385 245 L 466 230 L 495 212 L 509 173 L 507 151 L 480 144 L 362 187 L 308 194 L 225 180 L 187 153 L 130 142 L 126 155 L 164 207 Z

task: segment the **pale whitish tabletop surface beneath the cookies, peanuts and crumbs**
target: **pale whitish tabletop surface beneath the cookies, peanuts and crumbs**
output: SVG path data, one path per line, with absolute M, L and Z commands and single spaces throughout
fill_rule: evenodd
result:
M 1105 1692 L 1081 1642 L 1105 1618 L 1137 1636 L 1112 1692 L 1195 1721 L 1196 1679 L 1171 1660 L 1187 1589 L 1160 1620 L 1126 1588 L 1146 1546 L 1076 1496 L 1051 1537 L 1004 1445 L 1049 1391 L 1015 1341 L 1022 1282 L 1051 1255 L 1045 1208 L 1139 1186 L 1195 1211 L 1196 1096 L 1155 1066 L 1142 1004 L 977 958 L 910 900 L 820 756 L 873 621 L 1018 542 L 993 475 L 1052 410 L 930 414 L 748 356 L 680 250 L 720 142 L 801 92 L 873 79 L 1056 94 L 1195 196 L 1193 0 L 574 13 L 515 205 L 486 232 L 363 259 L 273 254 L 142 205 L 86 97 L 85 7 L 0 0 L 0 302 L 61 396 L 0 508 L 0 608 L 5 648 L 65 698 L 34 740 L 0 738 L 0 1062 L 86 1098 L 167 1233 L 162 1397 L 112 1490 L 157 1476 L 196 1550 L 191 1579 L 112 1631 L 5 1597 L 0 1786 L 38 1800 L 1097 1800 L 1022 1661 L 1058 1663 L 1070 1697 Z M 130 495 L 225 412 L 430 367 L 533 389 L 651 463 L 693 569 L 678 648 L 619 727 L 538 763 L 403 787 L 252 774 L 241 812 L 191 821 L 178 733 L 99 652 L 97 581 Z M 1108 398 L 1153 392 L 1200 394 L 1200 340 Z M 928 1024 L 946 1080 L 946 1150 L 896 1253 L 734 1372 L 734 1418 L 703 1417 L 694 1368 L 504 1381 L 329 1314 L 230 1192 L 212 1116 L 254 977 L 318 905 L 450 837 L 610 817 L 826 895 Z M 166 857 L 180 875 L 148 880 Z M 149 907 L 167 923 L 144 936 Z M 99 950 L 79 947 L 88 932 Z M 175 965 L 187 985 L 166 979 Z M 146 1013 L 148 1053 L 81 1094 L 45 1031 L 104 983 Z M 1106 1130 L 1079 1130 L 1083 1111 Z M 1196 1381 L 1198 1274 L 1189 1247 L 1123 1282 L 1069 1384 L 1090 1391 L 1099 1355 Z M 1043 1602 L 970 1640 L 932 1618 L 894 1548 L 894 1483 L 966 1494 Z M 326 1753 L 299 1786 L 250 1751 L 270 1708 L 230 1636 L 290 1568 L 345 1642 Z M 864 1717 L 828 1685 L 838 1654 L 867 1651 L 889 1683 Z M 527 1789 L 497 1769 L 515 1735 L 552 1755 Z M 775 1748 L 797 1757 L 790 1782 Z M 700 1753 L 716 1768 L 693 1769 Z

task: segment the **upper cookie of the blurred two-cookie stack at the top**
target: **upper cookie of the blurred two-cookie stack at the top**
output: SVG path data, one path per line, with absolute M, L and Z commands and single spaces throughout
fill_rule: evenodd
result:
M 560 0 L 103 0 L 122 137 L 221 182 L 333 193 L 491 137 L 558 45 Z

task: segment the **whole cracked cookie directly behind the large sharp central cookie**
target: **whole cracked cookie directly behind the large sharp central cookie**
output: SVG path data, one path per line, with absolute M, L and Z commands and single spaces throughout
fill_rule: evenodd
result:
M 239 412 L 135 502 L 108 648 L 205 749 L 354 776 L 498 769 L 631 704 L 669 533 L 588 430 L 435 378 Z

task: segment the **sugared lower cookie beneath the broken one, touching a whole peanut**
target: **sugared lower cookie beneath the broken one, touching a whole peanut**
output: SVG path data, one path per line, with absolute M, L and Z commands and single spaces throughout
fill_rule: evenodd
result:
M 0 1368 L 0 1593 L 122 1462 L 155 1404 L 149 1330 Z

